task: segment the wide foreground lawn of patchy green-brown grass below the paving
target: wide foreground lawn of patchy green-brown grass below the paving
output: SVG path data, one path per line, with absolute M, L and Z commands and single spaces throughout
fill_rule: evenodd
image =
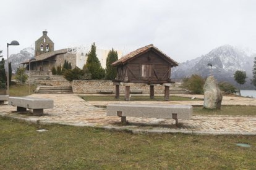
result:
M 3 118 L 0 127 L 0 169 L 256 167 L 256 136 L 129 134 L 90 127 L 38 127 Z M 41 128 L 48 131 L 36 132 Z

